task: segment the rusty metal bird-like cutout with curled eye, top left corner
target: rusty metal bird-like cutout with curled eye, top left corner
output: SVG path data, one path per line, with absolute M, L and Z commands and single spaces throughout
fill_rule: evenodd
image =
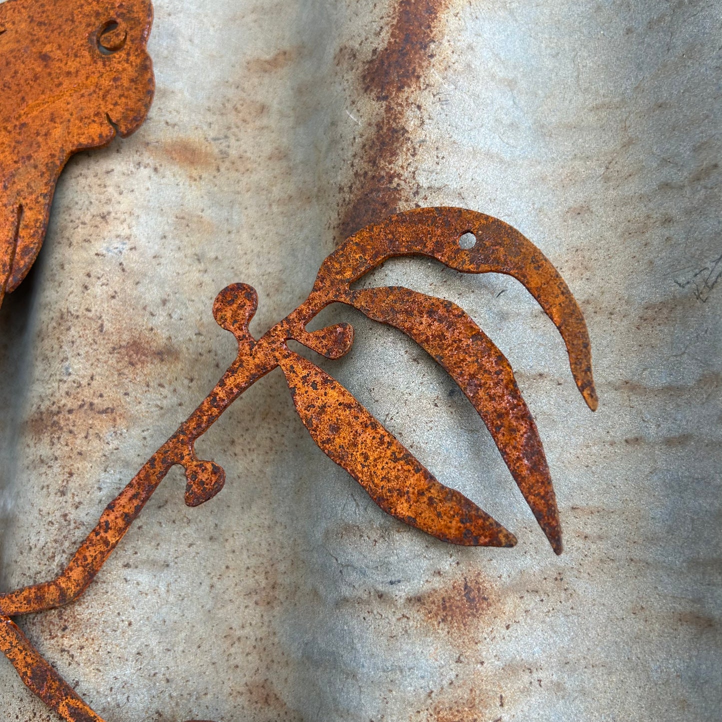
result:
M 147 116 L 152 18 L 149 0 L 0 4 L 0 304 L 38 256 L 69 157 Z

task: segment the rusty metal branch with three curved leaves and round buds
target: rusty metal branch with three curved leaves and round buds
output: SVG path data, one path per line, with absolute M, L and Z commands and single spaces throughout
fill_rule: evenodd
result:
M 462 248 L 460 238 L 469 233 L 475 243 Z M 573 295 L 538 248 L 513 227 L 484 214 L 459 208 L 415 209 L 365 227 L 323 261 L 308 298 L 259 339 L 248 330 L 257 308 L 256 291 L 242 283 L 226 287 L 216 297 L 213 314 L 237 339 L 238 356 L 217 385 L 108 504 L 61 575 L 0 594 L 0 647 L 27 687 L 64 719 L 100 721 L 10 617 L 77 599 L 175 464 L 186 471 L 187 505 L 214 497 L 225 483 L 225 472 L 213 461 L 197 458 L 194 444 L 232 401 L 276 367 L 284 373 L 313 440 L 388 514 L 452 544 L 516 544 L 500 523 L 438 482 L 338 381 L 288 348 L 293 339 L 329 359 L 349 351 L 353 329 L 347 323 L 306 330 L 331 303 L 353 306 L 374 321 L 395 326 L 448 371 L 490 430 L 554 552 L 562 551 L 559 513 L 541 440 L 500 350 L 449 301 L 401 287 L 352 289 L 353 282 L 386 259 L 409 255 L 430 256 L 464 273 L 492 271 L 518 279 L 559 329 L 579 391 L 596 409 L 589 338 Z

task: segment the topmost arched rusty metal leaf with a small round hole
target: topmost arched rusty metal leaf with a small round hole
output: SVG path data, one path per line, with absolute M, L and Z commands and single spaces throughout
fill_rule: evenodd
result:
M 472 248 L 459 238 L 476 236 Z M 352 235 L 326 258 L 316 289 L 348 284 L 392 256 L 431 256 L 464 273 L 507 274 L 521 282 L 557 326 L 577 387 L 594 410 L 591 346 L 582 312 L 557 269 L 536 245 L 498 218 L 463 208 L 417 208 L 388 217 Z

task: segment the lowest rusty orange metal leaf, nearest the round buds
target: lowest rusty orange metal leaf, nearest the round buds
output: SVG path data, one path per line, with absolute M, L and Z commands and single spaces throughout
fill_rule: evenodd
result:
M 279 365 L 313 440 L 386 513 L 452 544 L 516 544 L 471 500 L 438 482 L 336 379 L 293 352 Z

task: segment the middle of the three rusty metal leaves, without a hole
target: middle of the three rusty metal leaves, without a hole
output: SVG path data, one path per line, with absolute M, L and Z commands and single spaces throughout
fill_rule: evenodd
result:
M 355 308 L 414 339 L 448 371 L 479 412 L 554 552 L 562 552 L 557 500 L 539 432 L 514 372 L 492 340 L 451 301 L 402 287 L 351 296 Z

